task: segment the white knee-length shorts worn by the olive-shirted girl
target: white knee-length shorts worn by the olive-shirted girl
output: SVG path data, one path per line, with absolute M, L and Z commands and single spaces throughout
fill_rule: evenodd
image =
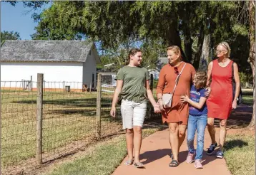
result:
M 146 111 L 147 102 L 122 100 L 121 114 L 123 129 L 132 129 L 134 126 L 142 127 Z

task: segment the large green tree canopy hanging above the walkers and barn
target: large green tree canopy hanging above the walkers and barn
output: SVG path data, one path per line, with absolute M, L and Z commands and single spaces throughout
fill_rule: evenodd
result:
M 24 5 L 35 9 L 42 4 L 29 2 Z M 84 36 L 112 51 L 119 51 L 129 41 L 162 41 L 164 47 L 182 46 L 184 59 L 198 68 L 204 36 L 210 33 L 209 48 L 227 41 L 232 58 L 248 71 L 249 27 L 241 22 L 245 15 L 240 9 L 239 1 L 54 1 L 34 16 L 39 26 L 32 38 L 70 40 Z

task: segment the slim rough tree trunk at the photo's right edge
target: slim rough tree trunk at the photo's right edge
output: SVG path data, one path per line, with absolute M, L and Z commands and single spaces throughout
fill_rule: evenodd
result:
M 255 129 L 255 1 L 249 1 L 249 22 L 250 22 L 250 54 L 248 62 L 252 68 L 253 76 L 253 112 L 250 129 Z

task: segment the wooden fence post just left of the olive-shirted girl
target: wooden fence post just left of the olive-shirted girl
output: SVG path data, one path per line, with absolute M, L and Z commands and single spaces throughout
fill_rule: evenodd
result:
M 97 134 L 98 137 L 101 137 L 101 100 L 102 100 L 102 74 L 98 73 L 97 79 L 97 111 L 96 111 L 96 118 L 97 118 Z

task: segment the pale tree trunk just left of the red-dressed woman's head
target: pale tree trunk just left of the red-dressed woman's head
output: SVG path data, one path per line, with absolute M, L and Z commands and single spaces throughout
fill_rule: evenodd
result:
M 202 54 L 200 57 L 199 70 L 207 71 L 208 64 L 210 63 L 210 42 L 211 36 L 209 34 L 205 34 L 204 43 L 202 44 Z

